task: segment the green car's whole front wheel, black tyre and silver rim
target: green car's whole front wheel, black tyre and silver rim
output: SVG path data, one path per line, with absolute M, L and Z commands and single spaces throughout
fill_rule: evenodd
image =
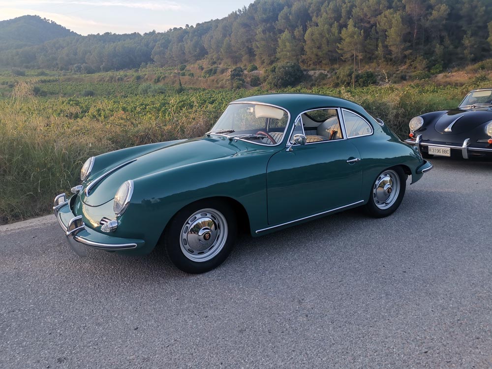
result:
M 225 202 L 203 200 L 181 209 L 169 222 L 164 248 L 186 273 L 205 273 L 220 265 L 236 241 L 234 210 Z

